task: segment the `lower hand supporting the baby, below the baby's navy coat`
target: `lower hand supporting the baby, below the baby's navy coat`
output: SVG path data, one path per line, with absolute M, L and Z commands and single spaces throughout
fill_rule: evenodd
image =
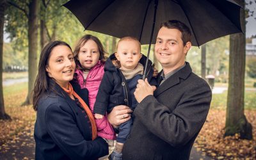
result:
M 130 109 L 128 106 L 115 106 L 111 113 L 108 114 L 108 121 L 111 125 L 113 125 L 113 127 L 117 128 L 118 125 L 131 118 L 130 113 L 132 113 L 132 109 Z

